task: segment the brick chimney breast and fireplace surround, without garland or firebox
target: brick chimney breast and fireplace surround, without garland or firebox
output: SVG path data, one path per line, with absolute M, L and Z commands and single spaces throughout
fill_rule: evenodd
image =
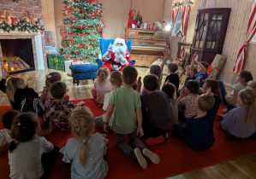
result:
M 9 17 L 19 18 L 21 20 L 26 19 L 26 14 L 29 12 L 33 20 L 41 19 L 43 20 L 43 11 L 41 0 L 18 0 L 13 2 L 13 0 L 1 0 L 0 1 L 1 10 L 4 12 L 9 12 Z M 28 33 L 28 32 L 3 32 L 0 31 L 0 39 L 32 39 L 33 43 L 33 58 L 35 70 L 45 69 L 47 67 L 46 60 L 46 49 L 45 49 L 45 33 Z M 3 77 L 3 53 L 0 44 L 0 77 Z

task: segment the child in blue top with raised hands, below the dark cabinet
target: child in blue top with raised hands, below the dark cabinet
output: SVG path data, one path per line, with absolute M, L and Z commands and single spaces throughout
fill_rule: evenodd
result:
M 197 63 L 197 71 L 198 73 L 194 74 L 195 79 L 199 82 L 199 87 L 203 88 L 203 85 L 205 84 L 205 79 L 208 78 L 208 72 L 206 70 L 209 67 L 209 63 L 206 61 L 199 61 L 199 55 L 195 53 L 195 56 L 193 55 L 194 58 L 192 58 L 191 61 L 191 68 L 193 69 L 194 62 Z M 192 71 L 190 71 L 192 72 Z M 191 75 L 192 76 L 192 75 Z

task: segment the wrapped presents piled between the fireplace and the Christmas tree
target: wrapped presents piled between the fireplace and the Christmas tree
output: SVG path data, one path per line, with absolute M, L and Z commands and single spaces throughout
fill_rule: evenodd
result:
M 83 61 L 72 61 L 67 58 L 66 55 L 57 54 L 57 46 L 55 43 L 54 32 L 45 31 L 45 45 L 48 59 L 48 67 L 54 70 L 60 70 L 67 72 L 68 75 L 71 75 L 71 70 L 69 66 L 71 65 L 80 65 L 88 64 Z

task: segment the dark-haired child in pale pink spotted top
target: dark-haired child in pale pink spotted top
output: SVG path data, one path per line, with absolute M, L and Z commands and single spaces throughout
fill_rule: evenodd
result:
M 199 97 L 198 94 L 199 83 L 196 80 L 189 80 L 177 100 L 179 107 L 179 120 L 186 122 L 187 118 L 192 118 L 197 115 L 196 103 Z M 185 110 L 182 109 L 182 106 L 185 106 Z

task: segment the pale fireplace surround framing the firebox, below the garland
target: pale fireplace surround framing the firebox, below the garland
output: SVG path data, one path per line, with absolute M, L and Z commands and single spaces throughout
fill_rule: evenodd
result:
M 42 37 L 43 36 L 43 37 Z M 46 56 L 44 55 L 45 46 L 42 43 L 42 39 L 44 39 L 41 32 L 3 32 L 0 31 L 0 39 L 22 39 L 22 38 L 31 38 L 33 42 L 33 56 L 34 56 L 34 64 L 35 70 L 42 70 L 45 69 L 47 66 Z M 3 54 L 0 44 L 0 77 L 3 77 Z

